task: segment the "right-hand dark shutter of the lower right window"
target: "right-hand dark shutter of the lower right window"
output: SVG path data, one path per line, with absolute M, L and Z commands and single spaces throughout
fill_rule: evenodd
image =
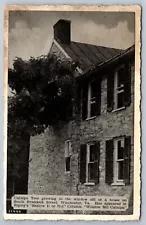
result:
M 124 183 L 130 183 L 130 154 L 131 154 L 131 137 L 125 137 L 124 143 Z

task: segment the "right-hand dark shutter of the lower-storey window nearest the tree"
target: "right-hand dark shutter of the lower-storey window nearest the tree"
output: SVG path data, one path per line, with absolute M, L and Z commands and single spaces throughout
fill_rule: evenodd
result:
M 94 161 L 94 171 L 95 171 L 95 184 L 99 183 L 99 163 L 100 163 L 100 142 L 95 143 L 95 161 Z

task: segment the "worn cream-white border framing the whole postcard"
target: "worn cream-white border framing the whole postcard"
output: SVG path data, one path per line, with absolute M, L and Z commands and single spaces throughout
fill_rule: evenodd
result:
M 6 166 L 7 166 L 7 90 L 8 90 L 8 13 L 11 10 L 29 11 L 112 11 L 135 12 L 135 104 L 134 104 L 134 213 L 133 215 L 62 215 L 62 214 L 7 214 L 6 213 Z M 32 220 L 139 220 L 140 217 L 140 31 L 141 8 L 138 5 L 9 5 L 5 8 L 4 19 L 4 219 Z M 139 149 L 139 151 L 137 151 Z

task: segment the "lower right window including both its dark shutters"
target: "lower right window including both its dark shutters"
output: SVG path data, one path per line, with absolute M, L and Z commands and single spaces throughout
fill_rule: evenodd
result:
M 130 183 L 131 137 L 106 141 L 106 183 Z

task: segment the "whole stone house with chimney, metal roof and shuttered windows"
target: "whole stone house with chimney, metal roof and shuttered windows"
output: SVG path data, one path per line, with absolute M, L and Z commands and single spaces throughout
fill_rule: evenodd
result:
M 78 113 L 31 137 L 28 194 L 126 196 L 133 190 L 134 55 L 71 41 L 54 25 L 50 52 L 78 61 Z M 75 114 L 75 112 L 74 112 Z

